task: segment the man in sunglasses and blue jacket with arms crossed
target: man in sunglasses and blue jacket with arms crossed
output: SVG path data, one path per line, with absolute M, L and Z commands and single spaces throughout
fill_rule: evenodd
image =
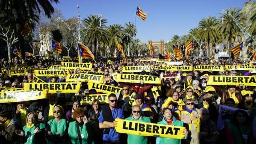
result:
M 117 98 L 114 93 L 108 96 L 109 105 L 102 106 L 99 116 L 99 127 L 103 130 L 103 143 L 120 143 L 120 134 L 115 129 L 115 119 L 124 119 L 124 112 L 116 106 Z

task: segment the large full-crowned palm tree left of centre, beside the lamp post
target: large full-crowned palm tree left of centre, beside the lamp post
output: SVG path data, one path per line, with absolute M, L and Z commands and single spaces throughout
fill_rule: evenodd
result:
M 97 15 L 90 15 L 88 18 L 83 20 L 85 28 L 83 31 L 87 31 L 87 34 L 84 35 L 85 42 L 87 39 L 90 39 L 93 44 L 93 54 L 96 55 L 97 42 L 103 42 L 106 39 L 106 23 L 107 19 L 100 19 Z M 88 29 L 89 28 L 89 29 Z M 84 42 L 84 43 L 85 43 Z

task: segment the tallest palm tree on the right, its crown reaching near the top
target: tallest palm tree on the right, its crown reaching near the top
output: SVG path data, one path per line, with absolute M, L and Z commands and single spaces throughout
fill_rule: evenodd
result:
M 238 7 L 234 7 L 233 9 L 229 7 L 227 13 L 222 14 L 223 22 L 221 24 L 219 23 L 217 26 L 217 29 L 219 33 L 222 34 L 222 37 L 227 37 L 226 40 L 228 41 L 228 52 L 230 52 L 231 49 L 233 34 L 240 31 L 234 19 L 228 13 L 230 13 L 236 20 L 239 19 L 238 22 L 242 22 L 243 19 L 240 18 L 240 11 L 241 9 Z

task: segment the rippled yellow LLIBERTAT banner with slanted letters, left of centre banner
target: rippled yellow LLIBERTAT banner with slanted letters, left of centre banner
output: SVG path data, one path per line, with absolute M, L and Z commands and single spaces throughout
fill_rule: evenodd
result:
M 94 82 L 94 83 L 102 83 L 104 76 L 102 75 L 92 75 L 92 74 L 76 74 L 76 75 L 68 75 L 66 77 L 66 82 L 74 82 L 79 80 L 81 82 Z

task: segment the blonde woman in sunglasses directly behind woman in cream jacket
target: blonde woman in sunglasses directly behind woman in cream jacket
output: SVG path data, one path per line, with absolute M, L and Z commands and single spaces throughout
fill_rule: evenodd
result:
M 194 106 L 197 108 L 199 99 L 192 86 L 188 86 L 185 91 L 185 97 L 183 98 L 183 101 L 187 100 L 194 100 Z

